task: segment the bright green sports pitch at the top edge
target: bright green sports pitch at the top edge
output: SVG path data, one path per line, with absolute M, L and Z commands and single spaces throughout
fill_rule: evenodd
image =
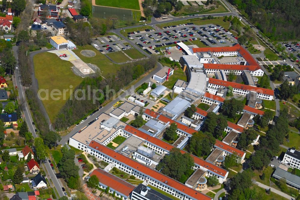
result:
M 133 10 L 140 10 L 140 5 L 138 0 L 96 0 L 96 5 L 109 6 L 116 8 L 128 8 Z

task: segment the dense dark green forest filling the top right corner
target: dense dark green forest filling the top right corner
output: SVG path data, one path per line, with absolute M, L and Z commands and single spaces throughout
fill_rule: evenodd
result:
M 228 0 L 262 33 L 274 41 L 300 38 L 298 0 Z

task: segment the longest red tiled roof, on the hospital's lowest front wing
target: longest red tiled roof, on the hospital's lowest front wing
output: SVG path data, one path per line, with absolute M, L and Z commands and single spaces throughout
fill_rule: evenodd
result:
M 178 191 L 180 191 L 184 194 L 187 194 L 193 198 L 201 199 L 201 200 L 208 200 L 208 199 L 211 200 L 211 197 L 208 197 L 199 191 L 196 191 L 190 187 L 187 187 L 186 185 L 184 185 L 164 174 L 161 174 L 158 171 L 155 171 L 155 170 L 147 167 L 146 165 L 143 165 L 137 161 L 134 161 L 133 159 L 130 159 L 127 156 L 117 153 L 114 150 L 112 150 L 96 141 L 91 141 L 91 143 L 88 146 L 118 160 L 121 163 L 124 163 L 125 165 L 130 166 L 131 168 L 136 169 L 137 171 L 141 171 L 144 174 L 149 174 L 150 177 L 153 177 L 154 179 L 156 179 L 162 183 L 165 183 L 166 185 L 168 185 L 172 188 L 175 188 Z

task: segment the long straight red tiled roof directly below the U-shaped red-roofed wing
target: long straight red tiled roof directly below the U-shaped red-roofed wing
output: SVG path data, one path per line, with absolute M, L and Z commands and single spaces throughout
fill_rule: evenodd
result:
M 208 83 L 215 84 L 215 85 L 221 85 L 221 86 L 225 86 L 225 87 L 232 86 L 233 88 L 236 88 L 236 89 L 255 91 L 257 93 L 274 96 L 274 90 L 265 89 L 265 88 L 261 88 L 261 87 L 253 87 L 250 85 L 233 83 L 230 81 L 219 80 L 219 79 L 215 79 L 215 78 L 209 78 Z

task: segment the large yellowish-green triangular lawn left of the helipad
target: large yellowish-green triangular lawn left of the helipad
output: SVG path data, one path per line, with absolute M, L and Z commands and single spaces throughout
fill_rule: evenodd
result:
M 66 99 L 62 98 L 62 96 L 54 96 L 55 98 L 60 97 L 60 99 L 54 100 L 49 96 L 53 89 L 63 93 L 64 89 L 69 89 L 71 85 L 73 88 L 76 88 L 83 79 L 72 72 L 71 67 L 73 64 L 71 62 L 58 58 L 54 53 L 39 53 L 34 56 L 33 62 L 39 89 L 49 90 L 48 99 L 42 102 L 53 123 L 56 115 L 70 95 L 70 92 L 67 91 L 65 92 Z M 56 91 L 55 93 L 57 94 L 58 92 Z M 45 97 L 45 92 L 41 92 L 41 97 Z

